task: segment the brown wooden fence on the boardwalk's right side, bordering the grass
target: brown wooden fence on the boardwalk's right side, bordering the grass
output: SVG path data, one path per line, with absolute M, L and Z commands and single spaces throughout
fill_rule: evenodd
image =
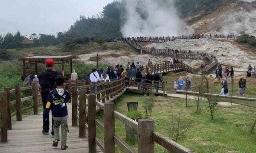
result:
M 115 119 L 138 131 L 138 153 L 154 153 L 158 143 L 172 153 L 193 153 L 182 145 L 154 131 L 154 121 L 142 119 L 138 122 L 114 110 L 113 101 L 125 92 L 124 78 L 85 86 L 72 86 L 72 126 L 79 124 L 79 137 L 88 130 L 89 153 L 96 153 L 96 145 L 104 153 L 114 153 L 115 144 L 126 153 L 137 153 L 115 133 Z M 94 88 L 97 86 L 97 92 Z M 79 100 L 78 100 L 79 98 Z M 104 122 L 96 118 L 98 110 L 104 111 Z M 96 127 L 104 131 L 104 142 L 97 137 Z

